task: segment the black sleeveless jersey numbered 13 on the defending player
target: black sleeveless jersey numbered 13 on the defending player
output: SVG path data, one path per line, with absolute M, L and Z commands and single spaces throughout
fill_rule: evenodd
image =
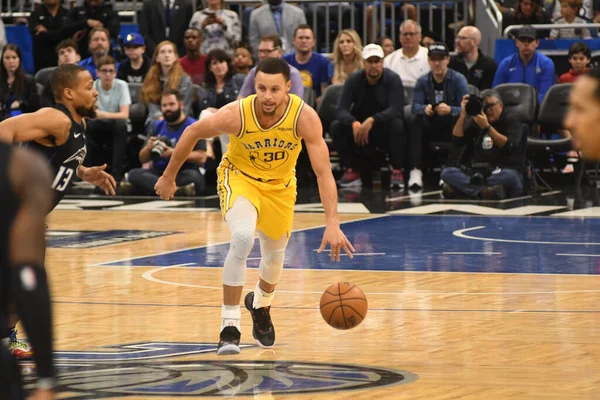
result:
M 54 171 L 52 189 L 55 192 L 52 209 L 62 200 L 66 191 L 71 187 L 73 179 L 77 176 L 77 168 L 83 163 L 87 148 L 85 146 L 85 128 L 73 119 L 73 116 L 63 104 L 54 106 L 64 112 L 71 120 L 71 130 L 65 143 L 60 146 L 44 146 L 37 142 L 30 142 L 29 146 L 44 153 L 48 163 Z

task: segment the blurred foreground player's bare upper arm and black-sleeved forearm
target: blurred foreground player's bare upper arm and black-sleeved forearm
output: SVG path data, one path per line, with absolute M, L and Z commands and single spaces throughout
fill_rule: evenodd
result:
M 19 199 L 19 210 L 10 232 L 12 288 L 17 314 L 31 345 L 38 374 L 35 398 L 54 398 L 52 361 L 52 313 L 44 269 L 46 228 L 44 221 L 54 193 L 51 173 L 39 155 L 15 149 L 10 164 L 10 180 Z

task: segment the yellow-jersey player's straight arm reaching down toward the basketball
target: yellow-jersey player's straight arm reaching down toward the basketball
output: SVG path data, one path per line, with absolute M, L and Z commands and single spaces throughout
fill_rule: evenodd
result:
M 319 253 L 329 244 L 331 246 L 332 261 L 340 261 L 341 249 L 344 249 L 346 254 L 352 258 L 354 247 L 340 229 L 340 220 L 337 215 L 337 188 L 331 173 L 329 149 L 325 140 L 323 140 L 321 121 L 315 110 L 307 105 L 304 105 L 302 114 L 298 118 L 298 135 L 306 143 L 310 163 L 315 175 L 317 175 L 321 203 L 325 208 L 327 225 Z

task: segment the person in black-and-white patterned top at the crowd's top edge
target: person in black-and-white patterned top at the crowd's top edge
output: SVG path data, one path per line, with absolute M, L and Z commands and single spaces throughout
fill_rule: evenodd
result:
M 233 57 L 233 49 L 242 38 L 240 18 L 231 10 L 224 8 L 224 0 L 206 0 L 207 7 L 196 11 L 190 20 L 190 28 L 202 32 L 200 53 L 222 49 Z

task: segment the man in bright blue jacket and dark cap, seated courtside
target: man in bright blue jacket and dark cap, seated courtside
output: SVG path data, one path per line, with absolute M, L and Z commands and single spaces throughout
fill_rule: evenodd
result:
M 542 104 L 546 92 L 556 81 L 554 63 L 536 51 L 539 41 L 531 25 L 519 29 L 515 42 L 519 51 L 500 62 L 492 87 L 502 83 L 526 83 L 537 89 L 539 104 Z

